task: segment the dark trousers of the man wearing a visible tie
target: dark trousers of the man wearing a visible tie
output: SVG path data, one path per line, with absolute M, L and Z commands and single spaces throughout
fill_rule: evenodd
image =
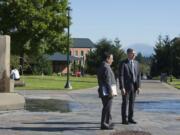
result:
M 126 95 L 122 95 L 122 106 L 121 106 L 122 121 L 127 120 L 127 108 L 128 108 L 128 120 L 133 119 L 135 97 L 136 97 L 136 92 L 134 88 L 130 90 Z

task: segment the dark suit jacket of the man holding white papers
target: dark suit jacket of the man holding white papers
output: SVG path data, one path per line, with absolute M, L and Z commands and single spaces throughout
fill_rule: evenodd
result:
M 108 95 L 111 91 L 111 85 L 116 84 L 116 80 L 114 77 L 114 73 L 109 64 L 106 62 L 102 62 L 101 66 L 97 72 L 97 79 L 98 79 L 98 93 L 99 97 L 103 97 L 103 87 L 106 87 Z

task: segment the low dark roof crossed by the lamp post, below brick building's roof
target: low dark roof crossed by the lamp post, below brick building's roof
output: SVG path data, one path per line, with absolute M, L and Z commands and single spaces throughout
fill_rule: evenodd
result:
M 61 53 L 54 53 L 53 55 L 47 56 L 48 60 L 51 61 L 67 61 L 67 55 Z M 70 61 L 81 60 L 81 57 L 69 56 Z

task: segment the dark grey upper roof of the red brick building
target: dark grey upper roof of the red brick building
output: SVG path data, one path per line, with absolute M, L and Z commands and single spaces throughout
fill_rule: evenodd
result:
M 73 38 L 71 48 L 95 48 L 95 44 L 89 38 Z

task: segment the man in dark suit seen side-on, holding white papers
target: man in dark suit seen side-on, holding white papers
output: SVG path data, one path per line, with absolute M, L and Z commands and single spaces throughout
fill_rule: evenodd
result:
M 101 115 L 101 129 L 113 129 L 111 107 L 113 96 L 111 94 L 111 86 L 116 85 L 114 73 L 110 67 L 113 62 L 113 55 L 110 53 L 104 54 L 104 61 L 97 72 L 98 78 L 98 93 L 102 100 L 103 108 Z

